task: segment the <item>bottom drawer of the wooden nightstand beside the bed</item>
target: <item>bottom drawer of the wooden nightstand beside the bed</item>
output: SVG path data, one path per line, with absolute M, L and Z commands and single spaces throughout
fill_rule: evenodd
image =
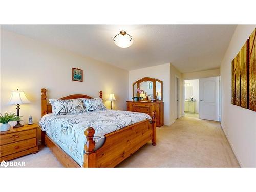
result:
M 20 152 L 23 150 L 27 150 L 28 148 L 32 148 L 35 146 L 37 146 L 36 138 L 2 145 L 2 146 L 0 146 L 0 157 L 6 156 L 9 154 L 13 154 L 13 153 L 17 153 L 17 152 Z

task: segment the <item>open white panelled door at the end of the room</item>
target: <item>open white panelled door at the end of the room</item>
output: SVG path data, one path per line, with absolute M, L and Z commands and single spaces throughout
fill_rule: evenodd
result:
M 199 79 L 199 118 L 219 121 L 219 77 Z

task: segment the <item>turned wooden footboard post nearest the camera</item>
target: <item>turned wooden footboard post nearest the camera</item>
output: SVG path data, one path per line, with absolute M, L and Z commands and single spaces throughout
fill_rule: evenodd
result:
M 86 129 L 86 131 L 84 131 L 84 135 L 86 135 L 87 142 L 84 145 L 84 151 L 86 151 L 86 154 L 84 154 L 83 167 L 87 167 L 87 168 L 95 167 L 96 153 L 94 152 L 94 148 L 95 148 L 95 142 L 93 140 L 94 133 L 95 133 L 95 130 L 92 127 L 89 127 Z

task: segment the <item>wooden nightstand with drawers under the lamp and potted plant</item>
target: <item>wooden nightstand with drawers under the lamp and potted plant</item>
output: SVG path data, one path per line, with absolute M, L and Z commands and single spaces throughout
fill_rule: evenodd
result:
M 38 152 L 37 124 L 0 132 L 0 162 Z

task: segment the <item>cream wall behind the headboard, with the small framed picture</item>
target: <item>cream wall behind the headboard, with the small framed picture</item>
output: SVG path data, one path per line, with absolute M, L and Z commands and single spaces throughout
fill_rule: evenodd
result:
M 86 45 L 85 45 L 86 46 Z M 83 82 L 72 81 L 72 67 L 83 70 Z M 113 108 L 126 110 L 129 72 L 70 51 L 1 30 L 1 113 L 15 112 L 7 105 L 11 91 L 24 90 L 30 104 L 21 105 L 23 124 L 28 116 L 38 123 L 41 116 L 41 88 L 48 89 L 48 98 L 70 94 L 86 94 L 103 99 L 115 94 Z M 110 101 L 105 101 L 110 108 Z M 12 124 L 13 125 L 13 124 Z

